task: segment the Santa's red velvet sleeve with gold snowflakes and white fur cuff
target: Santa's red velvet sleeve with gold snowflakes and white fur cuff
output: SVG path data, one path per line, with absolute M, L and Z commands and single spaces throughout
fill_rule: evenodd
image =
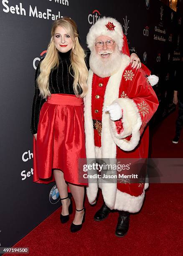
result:
M 118 103 L 123 111 L 122 119 L 110 120 L 114 142 L 125 151 L 133 150 L 152 115 L 158 108 L 158 98 L 142 69 L 125 68 L 122 75 Z

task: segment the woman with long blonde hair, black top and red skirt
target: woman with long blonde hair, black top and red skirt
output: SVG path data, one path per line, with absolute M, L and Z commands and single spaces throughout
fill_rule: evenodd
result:
M 79 44 L 76 23 L 60 18 L 53 23 L 47 54 L 35 74 L 31 132 L 34 182 L 56 181 L 62 202 L 61 223 L 69 220 L 72 201 L 76 204 L 71 232 L 84 222 L 84 186 L 79 182 L 80 158 L 86 158 L 83 97 L 88 69 Z

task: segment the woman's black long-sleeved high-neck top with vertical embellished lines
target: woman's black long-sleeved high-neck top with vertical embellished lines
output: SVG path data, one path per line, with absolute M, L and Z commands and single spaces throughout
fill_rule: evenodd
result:
M 51 94 L 54 93 L 62 93 L 62 94 L 72 94 L 74 95 L 74 88 L 73 88 L 73 82 L 74 82 L 74 72 L 69 67 L 71 65 L 71 59 L 70 59 L 71 50 L 66 53 L 58 52 L 59 55 L 59 64 L 58 67 L 55 67 L 51 69 L 50 77 L 49 77 L 49 90 Z M 90 52 L 86 51 L 86 67 L 89 69 L 89 55 Z M 42 61 L 43 59 L 41 59 Z M 40 90 L 38 88 L 38 84 L 36 82 L 38 75 L 40 74 L 40 63 L 38 64 L 38 67 L 36 69 L 35 73 L 35 93 L 33 97 L 33 104 L 32 104 L 32 114 L 31 114 L 31 125 L 30 125 L 30 131 L 35 134 L 37 133 L 38 129 L 38 123 L 39 123 L 39 114 L 41 111 L 41 107 L 43 103 L 46 101 L 46 99 L 43 99 L 43 97 L 40 95 Z M 80 88 L 80 94 L 82 93 Z

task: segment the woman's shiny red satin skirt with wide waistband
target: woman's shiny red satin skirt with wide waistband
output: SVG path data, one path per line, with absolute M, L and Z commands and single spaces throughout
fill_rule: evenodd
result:
M 83 100 L 52 94 L 41 108 L 33 138 L 33 181 L 53 182 L 53 169 L 60 169 L 66 182 L 86 185 L 79 182 L 80 158 L 86 158 Z

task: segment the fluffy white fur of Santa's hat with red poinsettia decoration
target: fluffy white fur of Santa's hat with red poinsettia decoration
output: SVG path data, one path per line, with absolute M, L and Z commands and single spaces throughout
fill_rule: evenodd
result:
M 116 42 L 119 51 L 122 50 L 123 31 L 121 24 L 116 19 L 102 17 L 91 26 L 89 33 L 86 36 L 86 42 L 90 51 L 94 49 L 96 38 L 99 36 L 109 36 Z

